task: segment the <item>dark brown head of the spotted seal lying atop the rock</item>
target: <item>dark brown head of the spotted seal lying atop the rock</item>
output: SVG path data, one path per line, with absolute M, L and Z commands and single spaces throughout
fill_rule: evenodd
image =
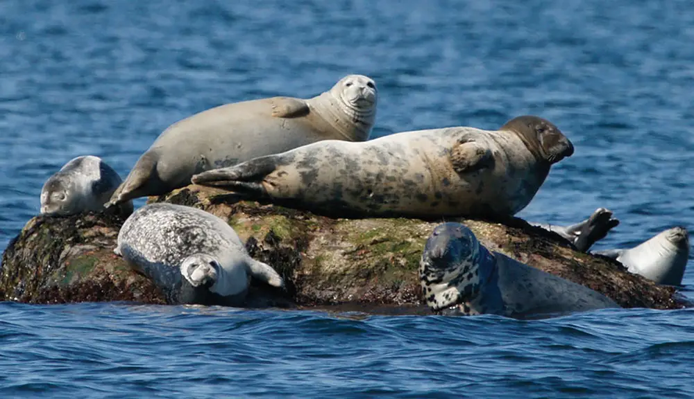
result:
M 539 161 L 552 165 L 573 154 L 573 144 L 559 127 L 539 116 L 524 115 L 511 119 L 500 130 L 518 134 Z

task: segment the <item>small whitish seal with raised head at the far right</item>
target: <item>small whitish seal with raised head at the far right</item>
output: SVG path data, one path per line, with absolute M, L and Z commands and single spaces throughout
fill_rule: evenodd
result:
M 684 227 L 672 227 L 633 248 L 591 253 L 613 258 L 629 272 L 641 274 L 658 284 L 682 285 L 689 259 L 689 233 Z

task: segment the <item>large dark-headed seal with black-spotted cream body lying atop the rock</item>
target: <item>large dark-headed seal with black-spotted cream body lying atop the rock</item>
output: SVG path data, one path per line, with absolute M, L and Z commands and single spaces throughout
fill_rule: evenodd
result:
M 550 166 L 571 154 L 555 125 L 519 116 L 498 131 L 446 127 L 321 141 L 192 181 L 339 217 L 496 218 L 525 208 Z

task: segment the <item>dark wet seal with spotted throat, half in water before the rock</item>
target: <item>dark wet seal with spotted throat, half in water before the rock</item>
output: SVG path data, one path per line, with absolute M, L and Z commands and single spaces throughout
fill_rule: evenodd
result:
M 427 304 L 441 314 L 526 319 L 620 307 L 588 287 L 489 251 L 455 222 L 432 231 L 419 279 Z

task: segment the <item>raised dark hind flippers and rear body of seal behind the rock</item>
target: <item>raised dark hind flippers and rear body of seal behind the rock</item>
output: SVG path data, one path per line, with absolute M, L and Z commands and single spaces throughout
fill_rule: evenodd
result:
M 552 233 L 557 233 L 561 238 L 568 240 L 576 249 L 587 252 L 595 242 L 602 240 L 607 233 L 619 225 L 619 220 L 612 218 L 612 211 L 598 208 L 593 215 L 570 226 L 557 226 L 556 224 L 530 223 Z

